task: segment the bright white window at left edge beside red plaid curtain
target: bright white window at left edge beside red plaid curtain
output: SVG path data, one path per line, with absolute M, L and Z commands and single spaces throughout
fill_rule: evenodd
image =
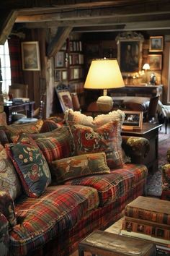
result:
M 9 46 L 8 40 L 4 45 L 0 45 L 0 58 L 1 58 L 1 75 L 2 75 L 2 92 L 8 93 L 9 85 L 11 85 L 11 65 L 9 59 Z

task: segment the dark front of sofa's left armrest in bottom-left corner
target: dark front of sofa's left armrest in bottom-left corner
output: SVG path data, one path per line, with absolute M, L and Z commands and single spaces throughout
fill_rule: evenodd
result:
M 0 213 L 0 252 L 1 255 L 9 255 L 9 222 L 4 214 Z

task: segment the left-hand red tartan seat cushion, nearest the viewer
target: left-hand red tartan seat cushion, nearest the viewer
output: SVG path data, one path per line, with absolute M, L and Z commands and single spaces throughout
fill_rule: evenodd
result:
M 90 187 L 51 186 L 36 200 L 22 197 L 22 208 L 19 205 L 18 200 L 18 224 L 9 235 L 12 253 L 27 255 L 62 231 L 73 228 L 88 211 L 98 207 L 99 198 L 97 191 Z

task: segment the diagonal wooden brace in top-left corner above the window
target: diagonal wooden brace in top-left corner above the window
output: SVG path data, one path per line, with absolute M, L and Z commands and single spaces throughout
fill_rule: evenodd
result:
M 17 11 L 8 11 L 1 14 L 0 22 L 0 44 L 4 44 L 12 31 L 14 22 L 17 18 Z

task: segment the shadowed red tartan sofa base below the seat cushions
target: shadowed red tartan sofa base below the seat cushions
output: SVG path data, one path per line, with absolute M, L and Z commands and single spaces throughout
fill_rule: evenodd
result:
M 37 249 L 31 256 L 68 256 L 78 249 L 79 242 L 95 229 L 106 229 L 112 223 L 120 219 L 124 214 L 125 205 L 143 194 L 146 179 L 143 179 L 126 195 L 115 202 L 97 208 L 81 219 L 76 226 L 68 231 L 63 231 L 54 239 Z

